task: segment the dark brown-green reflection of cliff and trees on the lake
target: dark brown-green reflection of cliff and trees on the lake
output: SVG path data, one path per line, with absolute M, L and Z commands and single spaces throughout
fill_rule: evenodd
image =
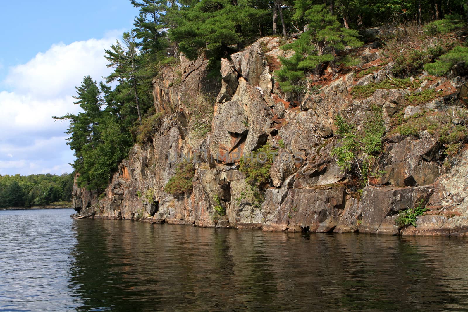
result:
M 78 311 L 461 311 L 468 303 L 461 239 L 109 220 L 77 220 L 72 230 Z

